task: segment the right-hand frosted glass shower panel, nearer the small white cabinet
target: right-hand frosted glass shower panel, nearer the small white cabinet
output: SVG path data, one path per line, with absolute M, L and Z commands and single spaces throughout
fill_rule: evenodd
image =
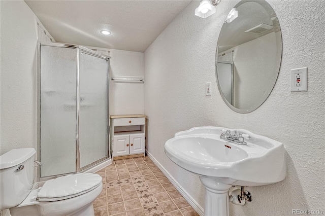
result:
M 80 167 L 107 158 L 107 60 L 80 53 Z

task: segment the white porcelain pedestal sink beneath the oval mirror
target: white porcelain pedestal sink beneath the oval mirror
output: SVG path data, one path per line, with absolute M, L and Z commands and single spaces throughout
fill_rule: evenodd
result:
M 247 145 L 220 138 L 221 127 L 194 127 L 175 134 L 165 143 L 166 155 L 178 166 L 196 173 L 205 186 L 205 215 L 229 215 L 228 191 L 232 186 L 262 186 L 286 176 L 286 152 L 281 142 L 250 135 Z

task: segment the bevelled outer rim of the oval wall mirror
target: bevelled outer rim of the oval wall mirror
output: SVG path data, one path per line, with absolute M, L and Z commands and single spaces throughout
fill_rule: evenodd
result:
M 259 5 L 261 5 L 267 12 L 269 15 L 271 14 L 274 14 L 276 15 L 274 9 L 272 8 L 272 6 L 266 2 L 265 0 L 242 0 L 240 1 L 238 4 L 236 4 L 233 8 L 237 8 L 239 7 L 240 5 L 244 4 L 244 3 L 249 3 L 249 2 L 254 2 L 254 3 L 257 3 Z M 239 15 L 240 16 L 240 15 Z M 277 16 L 276 16 L 277 17 Z M 271 17 L 270 17 L 271 18 Z M 221 27 L 221 30 L 219 32 L 219 36 L 218 36 L 218 42 L 217 42 L 217 47 L 216 47 L 216 53 L 215 53 L 215 75 L 216 75 L 216 80 L 217 80 L 217 85 L 218 85 L 218 90 L 219 90 L 219 93 L 223 99 L 223 101 L 230 107 L 230 109 L 232 109 L 233 111 L 237 112 L 237 113 L 241 113 L 241 114 L 246 114 L 246 113 L 251 113 L 252 111 L 256 110 L 259 106 L 261 106 L 266 100 L 267 98 L 270 96 L 272 90 L 274 89 L 274 86 L 277 82 L 277 79 L 279 77 L 279 73 L 280 73 L 280 68 L 281 68 L 281 61 L 282 61 L 282 52 L 283 52 L 283 49 L 282 49 L 282 32 L 281 32 L 281 28 L 280 28 L 280 23 L 278 21 L 278 19 L 275 19 L 275 20 L 272 20 L 273 22 L 273 26 L 277 27 L 280 31 L 280 35 L 279 35 L 279 42 L 280 42 L 280 45 L 278 46 L 278 49 L 281 49 L 280 52 L 279 52 L 279 56 L 277 57 L 278 61 L 276 61 L 275 63 L 278 64 L 278 66 L 276 67 L 277 68 L 277 71 L 273 71 L 274 73 L 276 73 L 276 79 L 274 81 L 274 84 L 272 85 L 272 88 L 269 88 L 267 89 L 267 94 L 264 94 L 263 97 L 259 98 L 256 102 L 256 105 L 252 106 L 252 107 L 249 107 L 249 109 L 239 109 L 237 107 L 235 107 L 234 105 L 232 105 L 224 96 L 222 90 L 221 90 L 221 87 L 220 87 L 220 83 L 219 83 L 219 79 L 218 79 L 218 49 L 219 49 L 219 39 L 220 39 L 220 33 L 222 31 L 222 27 Z

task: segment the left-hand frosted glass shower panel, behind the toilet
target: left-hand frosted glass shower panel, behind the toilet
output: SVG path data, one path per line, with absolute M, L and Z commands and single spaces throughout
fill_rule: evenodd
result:
M 41 177 L 76 171 L 76 54 L 41 46 Z

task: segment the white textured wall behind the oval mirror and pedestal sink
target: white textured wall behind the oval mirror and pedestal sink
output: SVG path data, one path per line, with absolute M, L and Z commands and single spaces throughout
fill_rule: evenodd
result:
M 202 207 L 199 177 L 171 162 L 165 141 L 194 126 L 245 128 L 284 143 L 287 177 L 263 187 L 248 187 L 254 199 L 230 204 L 231 215 L 291 215 L 291 209 L 325 206 L 324 1 L 268 1 L 282 30 L 283 55 L 277 83 L 266 102 L 249 114 L 233 112 L 215 81 L 218 34 L 226 14 L 238 1 L 221 1 L 216 13 L 194 16 L 193 1 L 145 51 L 145 114 L 148 150 Z M 308 67 L 308 92 L 290 92 L 290 69 Z M 212 96 L 205 83 L 212 82 Z

